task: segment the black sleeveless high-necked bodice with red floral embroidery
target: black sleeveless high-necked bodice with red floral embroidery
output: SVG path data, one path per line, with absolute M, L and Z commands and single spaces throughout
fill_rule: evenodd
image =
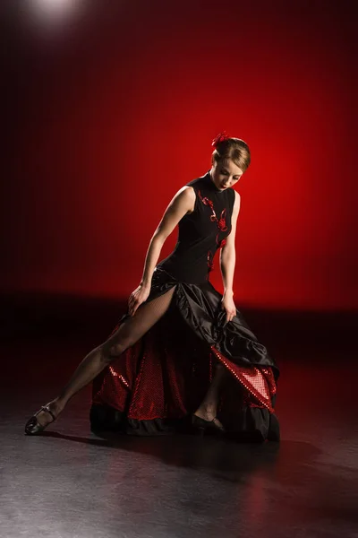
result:
M 232 228 L 234 189 L 219 190 L 209 171 L 186 185 L 195 191 L 194 211 L 179 221 L 175 249 L 157 267 L 179 282 L 207 282 L 215 253 L 225 245 Z

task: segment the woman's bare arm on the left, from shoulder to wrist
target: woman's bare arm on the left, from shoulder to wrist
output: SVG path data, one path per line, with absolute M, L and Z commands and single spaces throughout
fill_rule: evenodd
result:
M 175 229 L 177 223 L 183 216 L 193 210 L 195 204 L 195 192 L 192 187 L 182 187 L 173 197 L 166 208 L 161 221 L 158 224 L 152 238 L 149 241 L 147 255 L 145 257 L 143 276 L 141 284 L 143 287 L 150 287 L 154 268 L 157 265 L 158 257 L 166 238 Z

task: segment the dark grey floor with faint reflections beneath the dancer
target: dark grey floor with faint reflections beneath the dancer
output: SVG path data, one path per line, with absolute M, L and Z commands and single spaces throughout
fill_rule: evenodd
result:
M 280 443 L 100 438 L 90 386 L 25 436 L 89 344 L 37 335 L 2 346 L 2 538 L 358 537 L 354 353 L 278 352 Z

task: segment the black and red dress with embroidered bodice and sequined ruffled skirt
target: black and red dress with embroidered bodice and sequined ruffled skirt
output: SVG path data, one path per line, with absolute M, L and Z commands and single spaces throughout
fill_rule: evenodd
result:
M 194 211 L 179 221 L 175 249 L 156 266 L 145 301 L 175 286 L 170 307 L 93 380 L 91 428 L 132 435 L 187 431 L 218 360 L 231 374 L 217 409 L 227 435 L 279 440 L 275 360 L 237 308 L 226 322 L 222 295 L 209 282 L 215 253 L 232 228 L 234 190 L 217 189 L 209 172 L 187 185 L 196 194 Z M 129 316 L 127 310 L 113 333 Z

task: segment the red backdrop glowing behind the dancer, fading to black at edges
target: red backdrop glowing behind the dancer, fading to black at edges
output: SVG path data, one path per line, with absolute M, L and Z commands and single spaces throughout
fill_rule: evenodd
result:
M 236 306 L 358 307 L 354 2 L 40 4 L 1 7 L 3 291 L 127 297 L 226 129 L 252 155 Z

